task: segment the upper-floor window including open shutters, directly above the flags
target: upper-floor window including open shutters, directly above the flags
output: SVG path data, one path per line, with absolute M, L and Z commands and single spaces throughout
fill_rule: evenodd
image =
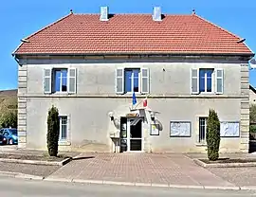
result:
M 116 93 L 149 93 L 148 68 L 118 68 L 116 70 Z

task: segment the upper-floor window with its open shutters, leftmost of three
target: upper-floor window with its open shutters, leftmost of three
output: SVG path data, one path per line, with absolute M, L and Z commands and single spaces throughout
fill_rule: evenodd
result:
M 75 94 L 77 90 L 76 68 L 44 69 L 44 93 L 66 92 Z

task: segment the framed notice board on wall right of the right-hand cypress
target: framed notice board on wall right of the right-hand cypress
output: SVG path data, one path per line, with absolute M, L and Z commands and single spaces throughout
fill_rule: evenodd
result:
M 229 122 L 222 121 L 220 122 L 220 135 L 222 137 L 239 137 L 240 136 L 240 123 L 239 121 Z

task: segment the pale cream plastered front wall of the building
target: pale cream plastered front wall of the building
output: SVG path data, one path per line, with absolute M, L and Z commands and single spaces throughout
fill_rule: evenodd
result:
M 133 94 L 125 91 L 124 73 L 133 68 L 139 69 L 137 103 L 148 97 L 148 107 L 159 112 L 155 113 L 155 120 L 161 125 L 158 135 L 151 134 L 154 123 L 151 111 L 137 111 L 145 112 L 141 137 L 137 137 L 141 138 L 141 152 L 205 152 L 206 143 L 200 140 L 204 137 L 201 134 L 203 126 L 199 120 L 207 117 L 210 109 L 218 113 L 220 121 L 239 124 L 238 135 L 234 132 L 234 135 L 221 138 L 221 152 L 247 152 L 249 84 L 246 61 L 183 57 L 162 60 L 27 59 L 20 63 L 20 147 L 46 149 L 47 111 L 55 105 L 60 116 L 67 118 L 66 140 L 60 142 L 61 149 L 119 152 L 119 126 L 115 126 L 109 112 L 114 113 L 117 121 L 121 116 L 134 113 L 130 110 Z M 47 75 L 46 70 L 52 73 L 61 68 L 67 69 L 66 91 L 53 92 L 54 78 Z M 212 69 L 210 91 L 200 91 L 203 81 L 200 69 Z M 207 76 L 204 82 L 207 86 Z M 46 84 L 53 86 L 46 88 Z M 172 135 L 171 122 L 187 125 L 190 134 Z M 129 126 L 129 119 L 126 124 Z M 129 133 L 131 127 L 127 130 Z M 129 136 L 126 139 L 131 141 Z

